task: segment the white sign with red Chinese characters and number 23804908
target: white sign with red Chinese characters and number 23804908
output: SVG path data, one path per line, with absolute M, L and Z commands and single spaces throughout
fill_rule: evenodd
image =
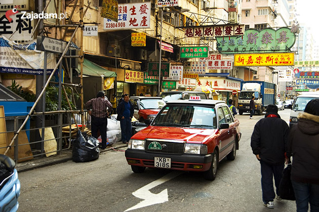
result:
M 151 3 L 118 4 L 117 22 L 104 18 L 104 30 L 150 27 Z

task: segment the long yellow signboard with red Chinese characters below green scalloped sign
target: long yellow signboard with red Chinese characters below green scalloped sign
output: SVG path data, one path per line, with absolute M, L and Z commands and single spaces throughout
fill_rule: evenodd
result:
M 295 53 L 234 54 L 234 66 L 293 66 Z

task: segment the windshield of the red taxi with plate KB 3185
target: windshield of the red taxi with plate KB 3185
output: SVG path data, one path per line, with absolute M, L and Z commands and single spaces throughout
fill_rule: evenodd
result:
M 205 106 L 166 105 L 152 125 L 216 129 L 216 111 L 215 108 Z

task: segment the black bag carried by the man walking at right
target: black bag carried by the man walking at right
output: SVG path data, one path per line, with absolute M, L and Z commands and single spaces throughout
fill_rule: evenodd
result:
M 278 193 L 282 199 L 296 200 L 294 188 L 292 186 L 291 180 L 291 163 L 283 171 L 283 178 L 280 181 Z

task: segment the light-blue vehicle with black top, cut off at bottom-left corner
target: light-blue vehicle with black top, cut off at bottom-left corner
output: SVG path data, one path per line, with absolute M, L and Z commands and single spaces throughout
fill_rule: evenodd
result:
M 0 154 L 0 211 L 17 211 L 19 207 L 20 181 L 15 162 Z

